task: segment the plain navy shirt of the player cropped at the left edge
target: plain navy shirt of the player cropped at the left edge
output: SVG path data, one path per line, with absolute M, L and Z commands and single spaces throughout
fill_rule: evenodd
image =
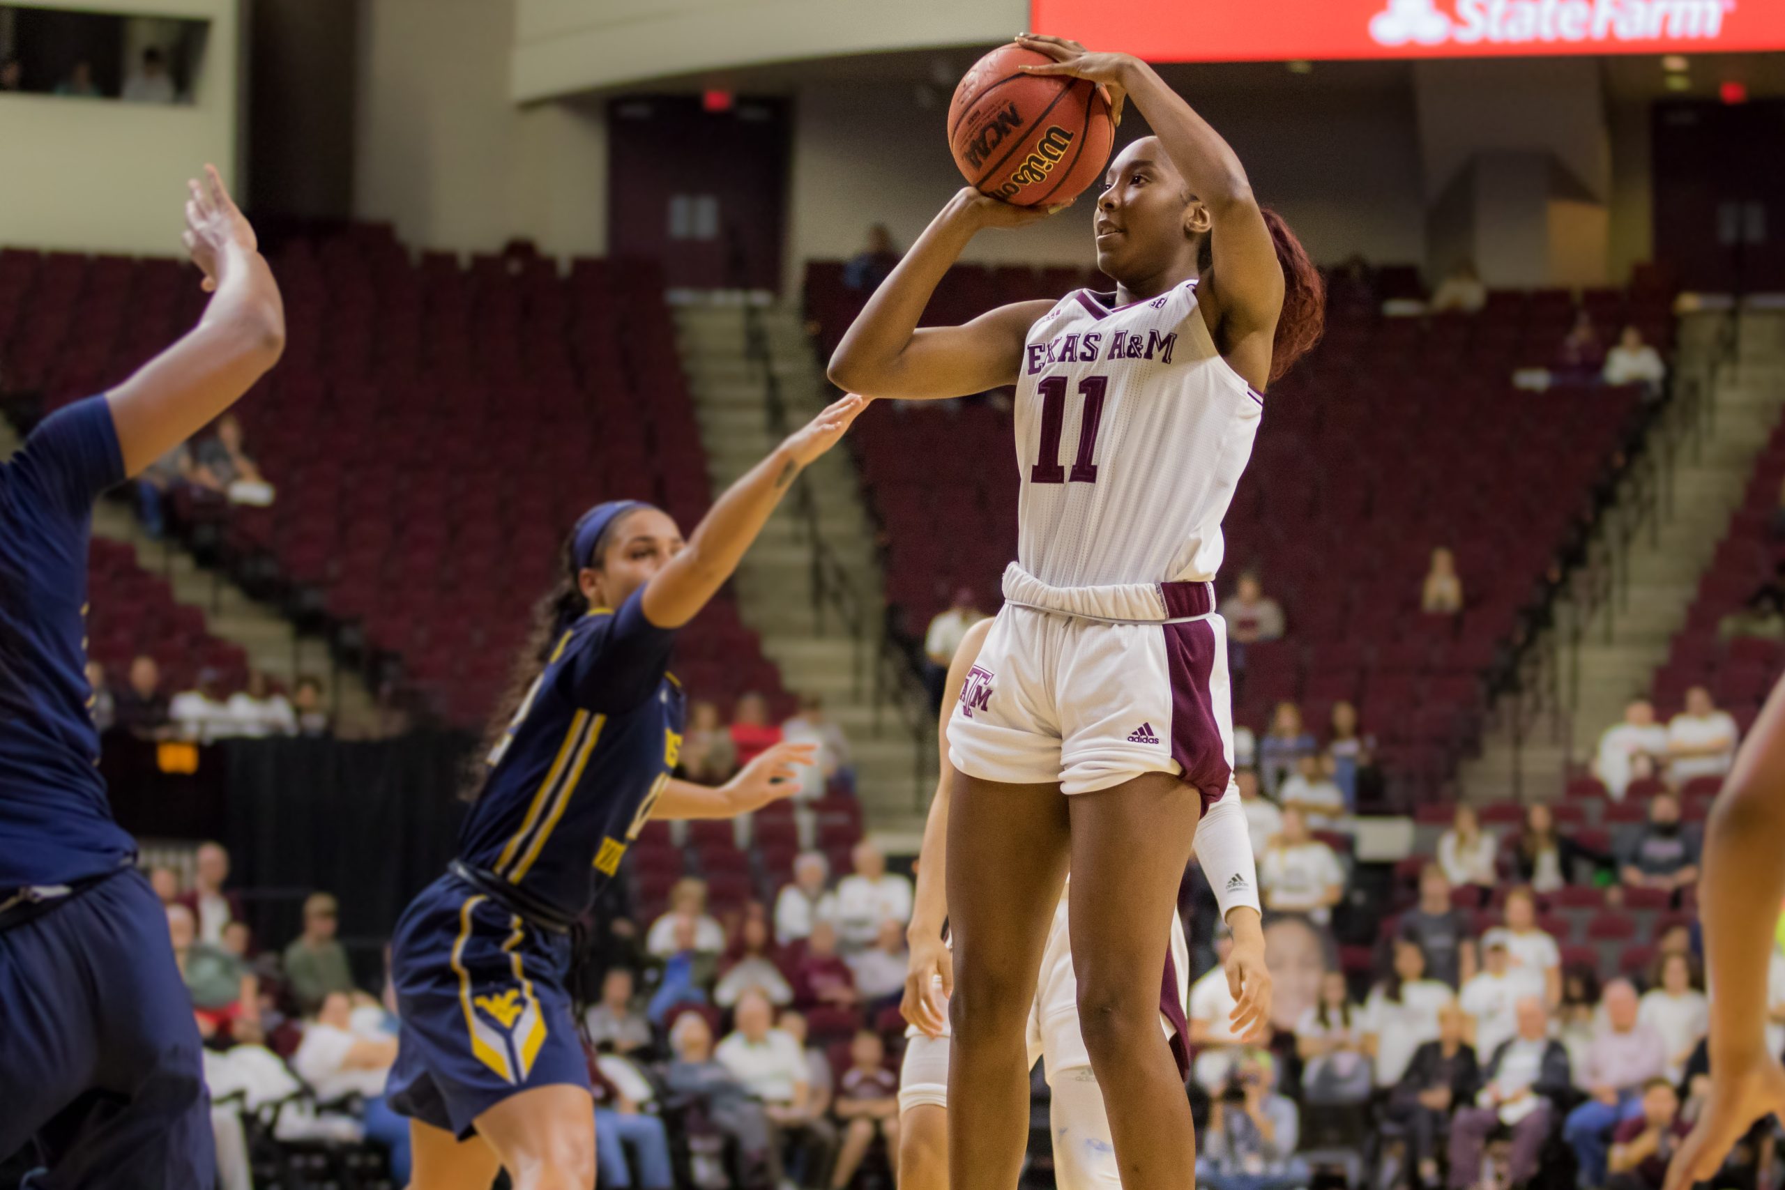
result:
M 104 396 L 45 417 L 0 462 L 0 901 L 136 855 L 105 801 L 86 676 L 93 500 L 123 478 Z

